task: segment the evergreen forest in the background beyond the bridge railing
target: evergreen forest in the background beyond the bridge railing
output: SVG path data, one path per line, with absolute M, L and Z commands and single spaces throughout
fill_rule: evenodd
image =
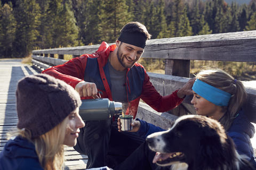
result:
M 114 43 L 130 21 L 151 39 L 256 30 L 256 0 L 0 0 L 0 58 Z

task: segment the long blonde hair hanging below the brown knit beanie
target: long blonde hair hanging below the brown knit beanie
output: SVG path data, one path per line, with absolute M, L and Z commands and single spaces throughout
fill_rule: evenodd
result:
M 61 123 L 55 126 L 49 132 L 46 132 L 39 137 L 31 139 L 31 134 L 28 130 L 17 129 L 12 133 L 7 133 L 9 139 L 14 135 L 20 135 L 26 138 L 35 145 L 39 163 L 45 170 L 62 169 L 64 162 L 64 139 L 68 124 L 68 117 Z

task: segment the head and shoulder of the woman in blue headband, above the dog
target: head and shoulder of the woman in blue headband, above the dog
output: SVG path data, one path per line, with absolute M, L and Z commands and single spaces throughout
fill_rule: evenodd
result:
M 202 70 L 193 85 L 194 105 L 198 115 L 218 120 L 233 139 L 239 154 L 246 155 L 254 165 L 254 152 L 250 138 L 254 126 L 247 120 L 242 106 L 247 93 L 241 81 L 220 69 Z

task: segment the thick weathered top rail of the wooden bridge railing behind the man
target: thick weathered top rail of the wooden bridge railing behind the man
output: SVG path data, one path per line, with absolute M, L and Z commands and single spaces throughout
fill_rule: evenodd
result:
M 256 62 L 255 39 L 256 31 L 152 39 L 147 40 L 147 46 L 142 57 L 177 60 Z M 33 50 L 33 54 L 91 54 L 99 46 Z

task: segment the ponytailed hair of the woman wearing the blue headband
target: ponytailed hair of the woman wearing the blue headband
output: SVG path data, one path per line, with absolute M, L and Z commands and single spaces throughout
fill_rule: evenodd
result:
M 196 79 L 232 95 L 228 106 L 223 106 L 222 108 L 222 112 L 225 115 L 219 120 L 224 128 L 228 130 L 239 111 L 241 111 L 242 106 L 247 101 L 247 92 L 243 83 L 235 80 L 229 73 L 221 69 L 212 69 L 209 67 L 204 67 L 195 76 Z

